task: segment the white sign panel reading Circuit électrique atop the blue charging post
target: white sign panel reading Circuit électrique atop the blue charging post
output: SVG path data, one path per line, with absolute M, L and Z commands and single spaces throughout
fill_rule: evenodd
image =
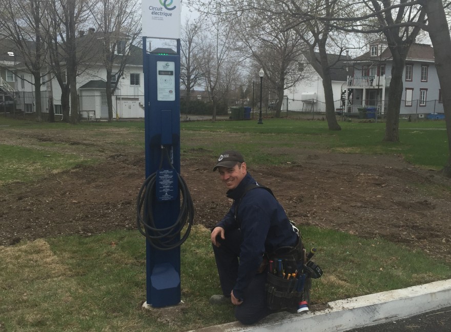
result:
M 142 0 L 142 35 L 180 39 L 181 0 Z

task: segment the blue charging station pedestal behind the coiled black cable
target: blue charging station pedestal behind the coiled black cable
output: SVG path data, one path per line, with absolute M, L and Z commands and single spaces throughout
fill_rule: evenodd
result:
M 180 173 L 180 40 L 171 49 L 146 50 L 142 40 L 145 88 L 146 178 L 157 172 L 152 201 L 155 225 L 165 229 L 180 212 L 177 177 Z M 169 154 L 171 168 L 162 150 Z M 173 239 L 174 242 L 180 236 Z M 146 302 L 163 307 L 180 303 L 180 246 L 158 250 L 146 239 Z

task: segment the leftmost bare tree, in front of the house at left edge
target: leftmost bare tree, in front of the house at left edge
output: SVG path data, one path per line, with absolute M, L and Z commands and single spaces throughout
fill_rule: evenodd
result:
M 44 43 L 47 36 L 42 22 L 44 22 L 47 6 L 47 2 L 36 0 L 0 0 L 3 37 L 12 41 L 15 46 L 14 52 L 23 60 L 22 64 L 33 76 L 37 121 L 42 121 L 40 87 L 42 78 L 47 75 L 42 73 L 45 70 L 47 54 Z

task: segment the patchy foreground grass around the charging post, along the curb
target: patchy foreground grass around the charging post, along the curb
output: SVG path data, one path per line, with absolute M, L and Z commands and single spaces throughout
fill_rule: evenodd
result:
M 302 227 L 324 275 L 313 303 L 451 277 L 451 266 L 382 239 Z M 0 247 L 0 323 L 6 331 L 186 331 L 234 321 L 220 292 L 209 230 L 194 226 L 181 246 L 181 299 L 141 308 L 146 296 L 145 238 L 136 231 L 61 236 Z M 421 268 L 418 268 L 421 266 Z

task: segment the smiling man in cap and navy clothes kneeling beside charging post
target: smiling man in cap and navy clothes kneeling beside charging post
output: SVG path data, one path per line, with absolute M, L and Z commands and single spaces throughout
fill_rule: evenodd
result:
M 232 302 L 236 319 L 253 324 L 271 313 L 265 293 L 265 253 L 296 246 L 300 239 L 272 193 L 258 188 L 239 152 L 222 153 L 216 170 L 233 203 L 211 233 L 222 295 L 213 295 L 210 303 Z

